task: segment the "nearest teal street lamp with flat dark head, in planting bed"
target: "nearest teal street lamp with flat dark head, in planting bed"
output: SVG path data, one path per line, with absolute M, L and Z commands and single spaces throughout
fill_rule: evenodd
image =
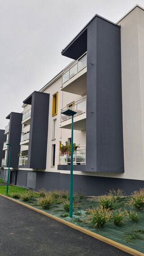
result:
M 63 115 L 71 116 L 71 157 L 70 157 L 70 211 L 69 217 L 73 216 L 73 131 L 74 131 L 74 115 L 77 112 L 67 109 L 61 112 Z

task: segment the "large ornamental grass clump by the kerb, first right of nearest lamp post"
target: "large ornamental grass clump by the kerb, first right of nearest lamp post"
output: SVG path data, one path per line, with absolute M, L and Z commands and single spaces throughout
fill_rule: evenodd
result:
M 87 220 L 94 224 L 94 227 L 103 227 L 107 221 L 109 221 L 111 212 L 109 209 L 104 208 L 102 205 L 96 209 L 87 209 Z M 84 220 L 85 222 L 85 220 Z

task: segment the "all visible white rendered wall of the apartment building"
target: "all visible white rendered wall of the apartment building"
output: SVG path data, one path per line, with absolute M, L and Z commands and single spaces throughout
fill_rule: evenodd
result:
M 122 113 L 124 143 L 124 173 L 74 172 L 77 175 L 117 177 L 144 180 L 144 10 L 136 7 L 127 14 L 121 25 L 122 54 Z M 61 91 L 61 77 L 55 79 L 44 93 L 50 93 L 48 120 L 47 172 L 70 173 L 57 170 L 59 141 L 71 137 L 71 130 L 59 128 L 61 108 L 80 98 L 79 95 Z M 52 95 L 58 92 L 58 113 L 52 117 Z M 84 96 L 84 95 L 83 95 Z M 81 97 L 83 97 L 81 96 Z M 24 112 L 30 108 L 24 107 Z M 56 140 L 52 140 L 53 120 L 57 119 Z M 26 129 L 26 128 L 25 128 Z M 23 129 L 24 130 L 24 129 Z M 86 130 L 74 130 L 74 142 L 86 144 Z M 55 167 L 52 163 L 52 144 L 56 144 Z M 23 146 L 21 146 L 21 150 Z

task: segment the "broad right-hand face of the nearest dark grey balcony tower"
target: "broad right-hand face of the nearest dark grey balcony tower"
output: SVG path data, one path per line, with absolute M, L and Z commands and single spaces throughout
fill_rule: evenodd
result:
M 96 19 L 96 98 L 93 100 L 96 102 L 96 171 L 124 172 L 121 31 L 101 18 Z

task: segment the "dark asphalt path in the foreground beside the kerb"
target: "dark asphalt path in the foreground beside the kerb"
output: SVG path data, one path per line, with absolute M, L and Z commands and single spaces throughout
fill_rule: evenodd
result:
M 129 254 L 0 196 L 0 256 L 93 255 Z

